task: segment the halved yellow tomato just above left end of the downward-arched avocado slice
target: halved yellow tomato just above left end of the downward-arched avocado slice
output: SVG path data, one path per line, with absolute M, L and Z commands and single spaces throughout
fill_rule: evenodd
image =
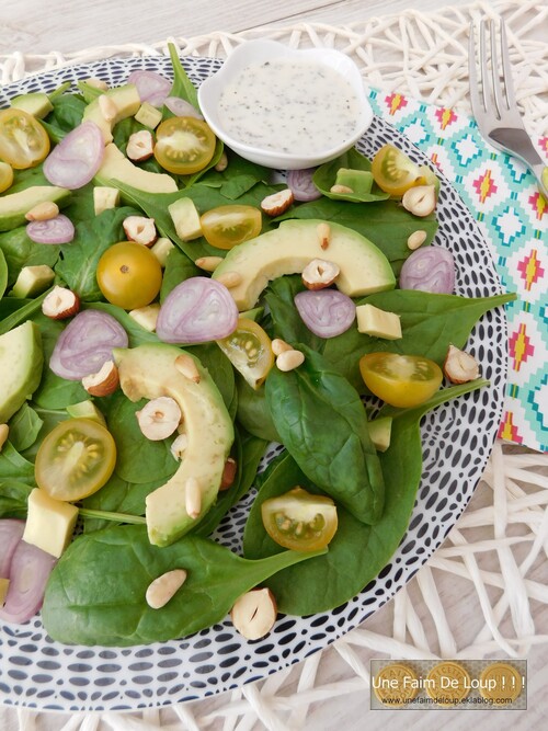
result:
M 263 218 L 253 206 L 228 205 L 212 208 L 199 218 L 202 233 L 217 249 L 231 249 L 261 233 Z

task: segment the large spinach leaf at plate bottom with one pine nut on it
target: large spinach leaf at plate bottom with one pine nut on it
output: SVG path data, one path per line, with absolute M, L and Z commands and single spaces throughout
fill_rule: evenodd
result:
M 59 559 L 42 620 L 54 640 L 69 644 L 165 642 L 222 621 L 239 596 L 313 556 L 285 551 L 248 561 L 195 536 L 158 548 L 144 526 L 112 526 L 78 537 Z M 174 568 L 187 571 L 185 583 L 164 607 L 151 609 L 148 585 Z

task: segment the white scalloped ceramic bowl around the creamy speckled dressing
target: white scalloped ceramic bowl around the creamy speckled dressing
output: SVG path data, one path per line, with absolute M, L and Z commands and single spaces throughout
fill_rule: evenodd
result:
M 358 104 L 358 113 L 353 130 L 346 138 L 338 141 L 336 145 L 315 151 L 313 153 L 304 153 L 299 152 L 299 150 L 292 151 L 292 153 L 278 152 L 272 149 L 253 147 L 243 140 L 236 139 L 226 130 L 222 123 L 222 115 L 219 115 L 218 112 L 222 90 L 251 64 L 262 64 L 275 59 L 293 59 L 294 57 L 330 67 L 344 77 L 351 84 Z M 275 41 L 248 41 L 238 46 L 219 71 L 202 83 L 198 89 L 198 101 L 206 122 L 227 147 L 247 160 L 279 170 L 312 168 L 322 162 L 333 160 L 354 146 L 369 127 L 373 119 L 373 110 L 365 94 L 363 79 L 356 65 L 347 56 L 332 48 L 296 50 Z M 283 104 L 283 100 L 277 100 L 277 103 Z

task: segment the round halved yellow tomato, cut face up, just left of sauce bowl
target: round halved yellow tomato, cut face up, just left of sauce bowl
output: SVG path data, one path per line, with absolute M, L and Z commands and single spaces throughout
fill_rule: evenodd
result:
M 215 135 L 202 119 L 170 117 L 156 129 L 155 158 L 164 170 L 190 175 L 207 165 L 215 145 Z

